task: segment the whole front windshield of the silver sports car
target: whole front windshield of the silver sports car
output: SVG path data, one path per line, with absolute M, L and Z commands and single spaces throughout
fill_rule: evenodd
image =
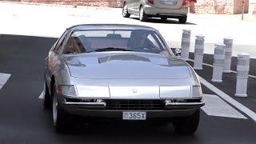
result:
M 63 54 L 102 51 L 135 51 L 170 54 L 165 42 L 152 30 L 76 30 Z

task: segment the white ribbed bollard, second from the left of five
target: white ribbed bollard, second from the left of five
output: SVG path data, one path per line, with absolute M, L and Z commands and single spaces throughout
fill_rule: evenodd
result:
M 205 36 L 197 35 L 194 45 L 194 70 L 202 70 Z

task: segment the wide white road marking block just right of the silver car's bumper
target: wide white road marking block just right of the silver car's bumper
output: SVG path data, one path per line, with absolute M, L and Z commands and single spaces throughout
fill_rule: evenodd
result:
M 206 102 L 206 106 L 202 106 L 202 110 L 204 110 L 207 115 L 247 119 L 244 115 L 239 113 L 238 110 L 235 110 L 217 95 L 203 94 L 202 99 L 204 102 Z

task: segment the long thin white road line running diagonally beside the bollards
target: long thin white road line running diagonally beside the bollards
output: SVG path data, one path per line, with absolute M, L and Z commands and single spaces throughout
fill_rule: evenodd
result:
M 220 98 L 224 99 L 226 102 L 229 102 L 231 105 L 236 107 L 238 110 L 241 110 L 244 114 L 246 114 L 247 116 L 252 118 L 254 120 L 254 122 L 256 122 L 256 114 L 254 113 L 254 111 L 248 109 L 246 106 L 243 106 L 241 103 L 235 101 L 229 95 L 222 92 L 222 90 L 218 90 L 217 87 L 215 87 L 212 84 L 210 84 L 209 82 L 207 82 L 204 78 L 200 77 L 200 82 L 202 83 L 202 85 L 204 85 L 204 86 L 208 87 L 210 90 L 212 90 L 215 94 L 218 94 L 218 96 Z

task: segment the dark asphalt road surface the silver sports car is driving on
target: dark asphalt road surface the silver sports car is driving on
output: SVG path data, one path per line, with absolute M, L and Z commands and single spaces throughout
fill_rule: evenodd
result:
M 175 134 L 171 125 L 158 126 L 137 122 L 94 122 L 88 126 L 77 122 L 69 134 L 56 134 L 52 126 L 51 111 L 44 110 L 42 99 L 38 98 L 43 89 L 45 57 L 55 40 L 15 35 L 0 36 L 0 73 L 11 74 L 0 90 L 0 143 L 256 142 L 256 123 L 252 119 L 210 116 L 203 110 L 197 133 L 189 137 Z M 203 78 L 210 78 L 210 69 L 206 67 L 206 71 L 198 71 L 198 74 Z M 230 81 L 225 81 L 233 82 L 234 76 L 230 77 Z M 255 81 L 250 82 L 250 90 L 254 90 Z M 234 84 L 223 85 L 226 86 L 225 89 L 218 87 L 232 96 L 229 90 L 234 89 Z M 250 93 L 250 98 L 255 98 L 254 91 Z M 205 86 L 203 92 L 214 94 Z M 246 105 L 246 102 L 242 104 Z M 255 111 L 256 108 L 252 104 L 248 107 Z

